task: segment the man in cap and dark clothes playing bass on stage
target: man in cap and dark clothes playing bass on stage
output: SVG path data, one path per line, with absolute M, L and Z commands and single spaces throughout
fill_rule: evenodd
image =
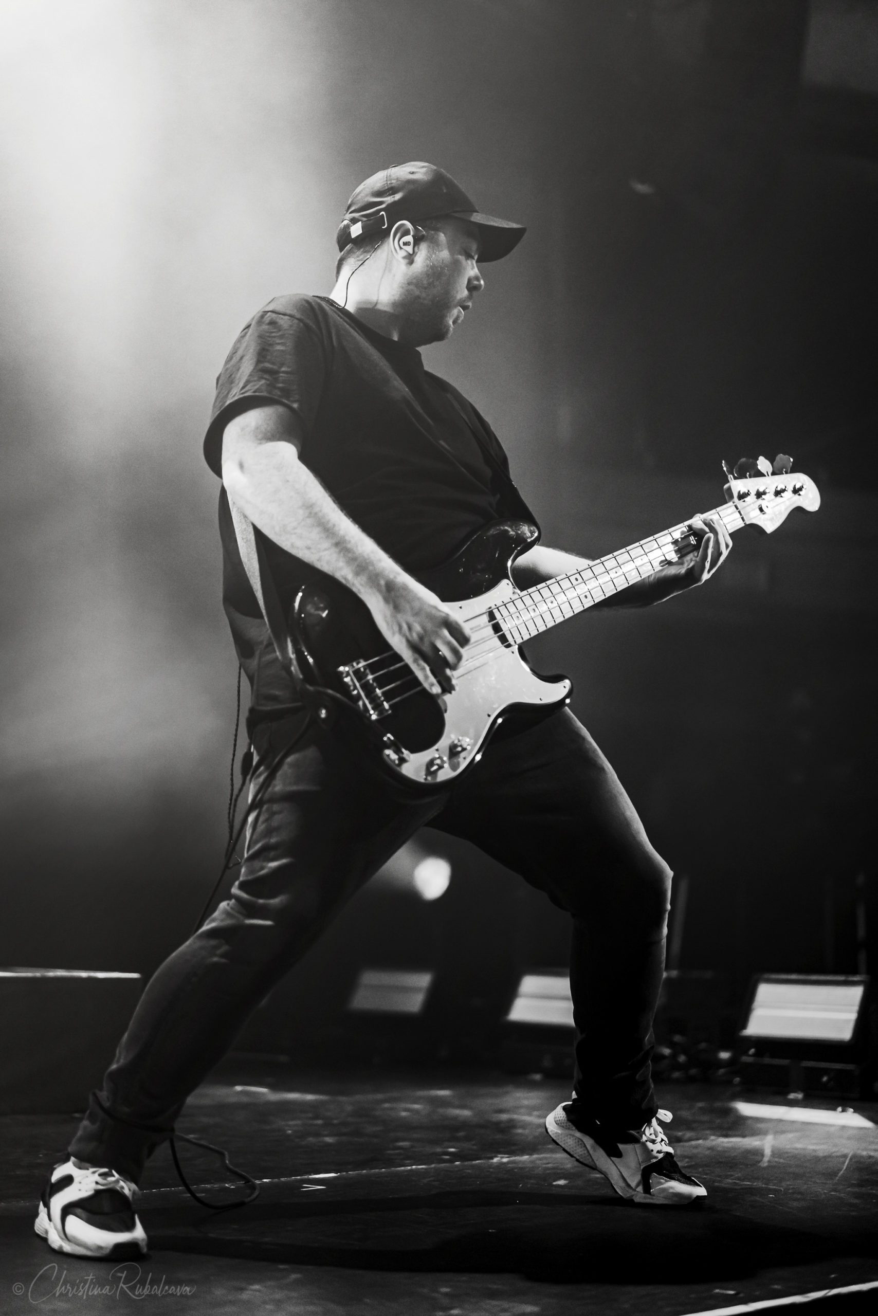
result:
M 149 982 L 53 1171 L 37 1227 L 59 1250 L 145 1249 L 130 1199 L 146 1158 L 274 983 L 424 824 L 474 842 L 570 913 L 575 1080 L 549 1134 L 633 1202 L 706 1195 L 677 1163 L 650 1079 L 671 874 L 588 732 L 567 708 L 511 722 L 458 780 L 400 794 L 303 701 L 230 512 L 258 528 L 284 608 L 303 582 L 341 582 L 426 691 L 449 695 L 473 636 L 421 578 L 491 522 L 534 519 L 487 422 L 417 349 L 452 334 L 484 287 L 479 266 L 523 234 L 434 166 L 382 170 L 350 199 L 330 295 L 274 299 L 226 358 L 204 450 L 222 480 L 224 607 L 251 686 L 259 807 L 229 899 Z M 606 605 L 707 580 L 729 534 L 716 516 L 690 529 L 692 551 Z M 529 586 L 582 562 L 534 545 L 513 576 Z

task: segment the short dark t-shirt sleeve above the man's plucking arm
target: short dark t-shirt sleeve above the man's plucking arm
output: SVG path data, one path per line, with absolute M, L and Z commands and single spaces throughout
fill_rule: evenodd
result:
M 221 475 L 222 430 L 247 407 L 282 403 L 309 434 L 326 370 L 326 345 L 316 324 L 270 307 L 259 311 L 236 338 L 216 382 L 204 436 L 204 458 L 211 470 Z

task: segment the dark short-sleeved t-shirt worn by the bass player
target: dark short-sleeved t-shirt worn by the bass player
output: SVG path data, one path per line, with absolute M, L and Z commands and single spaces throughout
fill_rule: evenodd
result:
M 220 475 L 222 430 L 249 405 L 300 420 L 300 459 L 338 505 L 412 575 L 450 558 L 480 526 L 533 513 L 475 407 L 421 355 L 325 297 L 275 297 L 238 334 L 217 379 L 204 455 Z M 241 563 L 220 495 L 222 601 L 258 707 L 295 700 Z M 267 544 L 282 603 L 312 571 Z

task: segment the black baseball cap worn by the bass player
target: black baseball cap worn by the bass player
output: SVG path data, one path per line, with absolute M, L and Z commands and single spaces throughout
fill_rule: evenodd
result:
M 459 183 L 436 164 L 412 161 L 392 164 L 361 183 L 348 201 L 336 242 L 344 251 L 349 242 L 386 232 L 398 220 L 433 220 L 453 215 L 479 230 L 479 261 L 500 261 L 525 234 L 521 224 L 482 215 Z

